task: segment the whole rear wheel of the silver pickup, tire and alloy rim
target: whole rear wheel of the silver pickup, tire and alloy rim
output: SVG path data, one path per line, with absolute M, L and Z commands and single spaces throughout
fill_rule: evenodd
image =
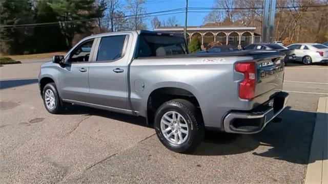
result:
M 192 151 L 204 137 L 197 108 L 183 99 L 163 103 L 155 114 L 154 126 L 160 142 L 175 152 Z

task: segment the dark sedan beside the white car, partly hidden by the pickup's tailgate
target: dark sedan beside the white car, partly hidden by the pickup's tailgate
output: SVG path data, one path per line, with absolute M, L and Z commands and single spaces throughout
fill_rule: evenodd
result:
M 243 50 L 275 50 L 284 53 L 284 61 L 295 61 L 296 55 L 294 49 L 288 49 L 275 43 L 252 43 L 243 48 Z

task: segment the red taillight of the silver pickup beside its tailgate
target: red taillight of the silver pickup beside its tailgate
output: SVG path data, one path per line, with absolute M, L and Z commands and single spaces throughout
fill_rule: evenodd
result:
M 239 98 L 252 99 L 255 96 L 255 62 L 238 62 L 237 72 L 244 74 L 244 80 L 239 83 Z

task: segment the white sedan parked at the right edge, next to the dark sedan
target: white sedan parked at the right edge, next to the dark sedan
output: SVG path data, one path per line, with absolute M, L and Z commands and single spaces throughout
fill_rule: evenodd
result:
M 328 62 L 328 47 L 320 43 L 294 43 L 287 47 L 295 49 L 296 61 L 304 64 Z

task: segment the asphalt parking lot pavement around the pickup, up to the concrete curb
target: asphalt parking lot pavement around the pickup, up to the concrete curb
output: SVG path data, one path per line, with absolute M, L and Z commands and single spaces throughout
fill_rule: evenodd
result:
M 73 106 L 50 114 L 43 61 L 0 67 L 1 183 L 303 183 L 328 66 L 285 67 L 283 122 L 258 134 L 207 132 L 191 154 L 166 149 L 144 118 Z

